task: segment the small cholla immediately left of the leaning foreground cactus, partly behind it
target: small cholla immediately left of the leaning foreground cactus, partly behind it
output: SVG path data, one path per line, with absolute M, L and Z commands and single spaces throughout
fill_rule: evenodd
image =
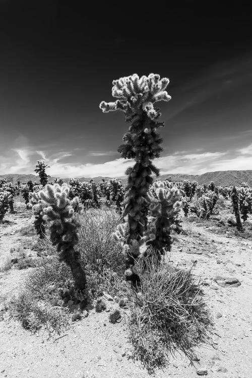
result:
M 35 185 L 35 187 L 41 186 L 43 188 L 43 185 Z M 35 219 L 34 219 L 34 227 L 37 232 L 37 235 L 39 235 L 40 239 L 43 239 L 45 237 L 45 224 L 43 222 L 43 216 L 44 216 L 44 210 L 43 210 L 43 202 L 40 197 L 41 189 L 40 191 L 34 190 L 31 194 L 31 199 L 29 203 L 29 208 L 32 208 Z

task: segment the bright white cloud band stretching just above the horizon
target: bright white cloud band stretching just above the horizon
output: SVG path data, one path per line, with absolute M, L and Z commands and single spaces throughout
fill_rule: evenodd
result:
M 32 173 L 34 163 L 39 157 L 44 158 L 50 165 L 48 173 L 51 176 L 61 177 L 95 177 L 95 176 L 123 176 L 125 169 L 134 164 L 132 160 L 117 158 L 105 163 L 70 163 L 67 157 L 73 156 L 69 151 L 58 151 L 53 154 L 32 148 L 14 148 L 13 154 L 0 157 L 0 174 Z M 99 155 L 100 156 L 100 155 Z M 104 155 L 106 156 L 106 155 Z M 62 162 L 62 159 L 65 159 Z M 162 156 L 155 160 L 155 165 L 161 174 L 188 173 L 202 174 L 218 170 L 245 170 L 251 169 L 252 143 L 239 149 L 228 151 L 176 151 L 172 155 Z

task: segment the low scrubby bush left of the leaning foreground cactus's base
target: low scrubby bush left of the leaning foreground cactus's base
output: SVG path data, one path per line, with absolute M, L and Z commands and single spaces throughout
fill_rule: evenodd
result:
M 56 258 L 47 259 L 30 272 L 21 293 L 9 303 L 11 315 L 26 329 L 36 332 L 45 328 L 49 333 L 60 333 L 69 324 L 71 274 Z

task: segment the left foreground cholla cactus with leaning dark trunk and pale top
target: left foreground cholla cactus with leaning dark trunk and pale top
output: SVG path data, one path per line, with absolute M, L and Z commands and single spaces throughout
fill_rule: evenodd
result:
M 78 242 L 78 222 L 73 217 L 74 209 L 69 199 L 68 185 L 46 185 L 39 192 L 42 200 L 43 219 L 47 222 L 50 239 L 57 246 L 59 260 L 71 269 L 76 288 L 85 293 L 86 274 L 80 263 L 80 254 L 75 249 Z

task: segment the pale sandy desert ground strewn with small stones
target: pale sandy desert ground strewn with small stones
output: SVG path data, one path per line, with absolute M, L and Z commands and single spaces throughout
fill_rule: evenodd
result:
M 0 266 L 15 255 L 11 248 L 22 238 L 29 239 L 19 230 L 32 224 L 32 213 L 20 202 L 15 205 L 17 214 L 8 214 L 5 219 L 9 223 L 0 226 Z M 184 356 L 176 355 L 165 371 L 157 371 L 158 378 L 197 377 L 197 369 L 202 367 L 211 378 L 252 377 L 252 242 L 216 234 L 209 225 L 211 222 L 185 220 L 185 232 L 177 236 L 170 259 L 184 268 L 194 264 L 195 274 L 203 277 L 214 319 L 212 340 L 210 345 L 199 348 L 200 360 L 195 366 L 190 366 Z M 57 335 L 48 338 L 45 332 L 33 335 L 10 319 L 3 310 L 4 303 L 22 288 L 30 269 L 17 270 L 14 266 L 0 273 L 0 378 L 79 378 L 88 377 L 87 371 L 94 372 L 97 378 L 148 376 L 140 363 L 127 358 L 127 309 L 116 325 L 108 322 L 107 312 L 91 310 L 87 318 L 73 323 L 59 339 Z M 214 281 L 217 275 L 235 277 L 241 285 L 219 286 Z M 109 308 L 115 308 L 115 303 L 108 302 Z

